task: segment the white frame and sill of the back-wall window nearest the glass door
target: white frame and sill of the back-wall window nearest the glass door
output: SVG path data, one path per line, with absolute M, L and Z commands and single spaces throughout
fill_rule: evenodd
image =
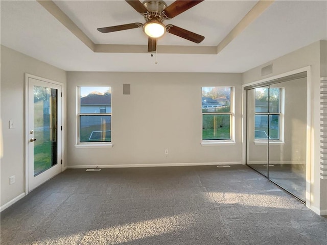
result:
M 99 86 L 99 85 L 80 85 L 76 87 L 76 144 L 75 148 L 111 148 L 113 146 L 112 143 L 112 135 L 111 141 L 106 142 L 80 142 L 80 116 L 87 116 L 87 115 L 110 115 L 111 122 L 112 122 L 112 96 L 111 96 L 111 113 L 80 113 L 81 109 L 81 87 L 110 87 L 111 94 L 112 94 L 112 87 L 110 85 L 106 86 Z M 112 123 L 111 128 L 112 132 Z

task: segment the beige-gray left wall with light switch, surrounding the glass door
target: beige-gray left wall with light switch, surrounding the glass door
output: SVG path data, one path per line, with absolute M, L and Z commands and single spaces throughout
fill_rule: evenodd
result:
M 66 84 L 66 72 L 1 45 L 1 206 L 25 192 L 25 73 Z M 9 129 L 9 120 L 16 127 Z M 9 177 L 16 182 L 9 185 Z

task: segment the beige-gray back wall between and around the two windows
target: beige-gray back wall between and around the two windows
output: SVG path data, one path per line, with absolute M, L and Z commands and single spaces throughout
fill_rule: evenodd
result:
M 241 162 L 241 74 L 67 72 L 67 80 L 69 166 Z M 112 148 L 74 146 L 76 89 L 88 85 L 112 88 Z M 235 86 L 235 145 L 201 145 L 202 86 Z

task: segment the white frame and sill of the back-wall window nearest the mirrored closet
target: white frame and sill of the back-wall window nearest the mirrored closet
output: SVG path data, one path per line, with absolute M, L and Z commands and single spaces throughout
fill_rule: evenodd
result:
M 230 112 L 202 112 L 202 88 L 230 88 Z M 201 145 L 202 146 L 216 146 L 216 145 L 235 145 L 235 86 L 216 86 L 216 85 L 207 85 L 201 86 Z M 227 114 L 230 115 L 230 139 L 211 139 L 205 140 L 203 139 L 203 115 L 204 114 Z

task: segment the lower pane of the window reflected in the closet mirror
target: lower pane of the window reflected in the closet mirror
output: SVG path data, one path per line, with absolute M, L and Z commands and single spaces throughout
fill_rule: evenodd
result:
M 279 115 L 255 115 L 254 139 L 279 139 Z

